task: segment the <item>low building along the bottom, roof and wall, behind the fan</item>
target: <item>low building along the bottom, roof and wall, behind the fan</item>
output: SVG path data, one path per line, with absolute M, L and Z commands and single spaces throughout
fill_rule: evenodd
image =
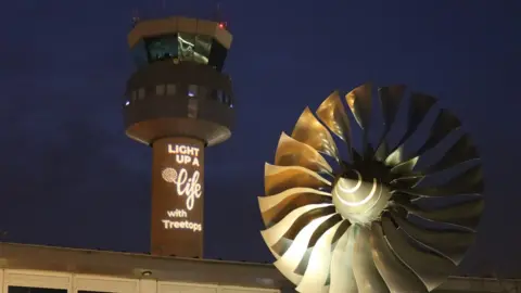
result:
M 0 243 L 0 293 L 285 293 L 271 265 Z M 439 293 L 521 292 L 521 280 L 450 277 Z

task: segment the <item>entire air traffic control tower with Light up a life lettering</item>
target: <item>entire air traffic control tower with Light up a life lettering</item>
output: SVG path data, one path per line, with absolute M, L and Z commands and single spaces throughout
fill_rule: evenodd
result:
M 204 149 L 233 124 L 232 36 L 226 24 L 187 17 L 135 20 L 137 69 L 123 106 L 126 133 L 152 146 L 151 253 L 203 256 Z

